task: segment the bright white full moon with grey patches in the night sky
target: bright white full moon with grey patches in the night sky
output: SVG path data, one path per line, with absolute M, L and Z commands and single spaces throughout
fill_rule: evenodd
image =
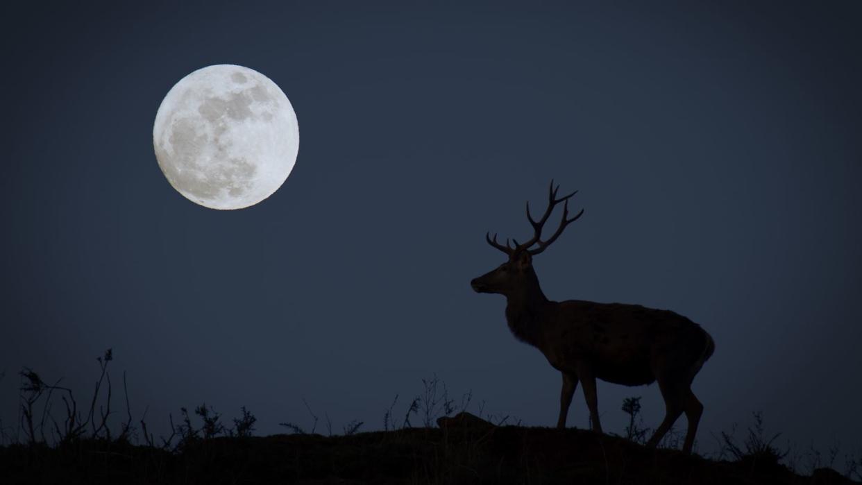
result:
M 270 78 L 209 65 L 179 80 L 153 124 L 159 167 L 185 198 L 216 209 L 272 196 L 299 151 L 297 115 Z

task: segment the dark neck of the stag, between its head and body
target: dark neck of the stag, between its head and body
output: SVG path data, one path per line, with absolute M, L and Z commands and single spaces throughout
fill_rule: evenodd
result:
M 539 278 L 531 270 L 528 283 L 506 295 L 506 320 L 515 338 L 538 347 L 541 343 L 542 324 L 553 307 L 539 286 Z

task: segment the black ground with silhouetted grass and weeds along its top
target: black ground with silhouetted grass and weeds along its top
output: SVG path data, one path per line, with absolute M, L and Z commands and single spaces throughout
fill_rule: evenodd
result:
M 253 435 L 257 418 L 246 407 L 231 420 L 205 403 L 181 407 L 171 434 L 156 438 L 144 415 L 133 423 L 125 374 L 120 413 L 109 365 L 113 352 L 97 358 L 99 377 L 88 407 L 72 392 L 48 384 L 36 371 L 19 376 L 21 419 L 14 432 L 0 424 L 3 483 L 853 483 L 862 479 L 862 457 L 845 455 L 843 474 L 834 470 L 837 445 L 828 456 L 781 449 L 780 433 L 765 431 L 762 413 L 741 440 L 736 429 L 713 435 L 710 457 L 643 446 L 649 429 L 640 418 L 640 397 L 623 401 L 628 426 L 622 435 L 567 428 L 520 426 L 502 418 L 468 413 L 472 393 L 456 401 L 437 376 L 422 379 L 422 392 L 398 396 L 384 410 L 383 431 L 359 432 L 353 420 L 328 436 L 317 433 L 319 417 L 307 401 L 308 429 L 284 421 L 289 434 Z M 62 402 L 55 413 L 56 402 Z M 55 414 L 59 414 L 56 415 Z M 122 415 L 122 419 L 115 416 Z M 412 419 L 412 420 L 411 420 Z M 116 420 L 116 422 L 114 422 Z M 663 443 L 676 448 L 682 435 Z M 799 463 L 804 462 L 805 475 Z

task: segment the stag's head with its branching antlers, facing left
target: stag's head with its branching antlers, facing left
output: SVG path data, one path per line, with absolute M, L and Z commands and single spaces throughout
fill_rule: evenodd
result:
M 496 233 L 493 238 L 490 237 L 489 233 L 485 233 L 485 240 L 488 241 L 488 244 L 504 252 L 508 260 L 481 277 L 474 278 L 470 282 L 474 290 L 478 293 L 513 295 L 515 292 L 522 291 L 523 289 L 530 289 L 531 287 L 539 288 L 539 281 L 533 270 L 533 257 L 545 251 L 547 246 L 551 246 L 553 241 L 559 238 L 559 235 L 563 233 L 566 226 L 574 221 L 578 221 L 578 218 L 584 215 L 584 209 L 581 209 L 577 215 L 569 219 L 569 199 L 577 194 L 578 190 L 559 199 L 557 198 L 558 190 L 559 185 L 554 188 L 552 180 L 551 187 L 548 190 L 547 209 L 545 209 L 545 214 L 541 216 L 539 221 L 533 219 L 533 215 L 530 214 L 530 202 L 527 202 L 527 219 L 530 221 L 530 225 L 533 226 L 534 233 L 533 237 L 524 244 L 518 244 L 518 241 L 512 239 L 512 242 L 515 244 L 515 247 L 512 247 L 509 246 L 509 239 L 506 239 L 506 245 L 503 246 L 497 242 Z M 551 216 L 553 208 L 560 202 L 563 202 L 563 218 L 559 221 L 559 227 L 557 227 L 557 231 L 550 238 L 542 240 L 542 228 L 545 226 L 547 218 Z

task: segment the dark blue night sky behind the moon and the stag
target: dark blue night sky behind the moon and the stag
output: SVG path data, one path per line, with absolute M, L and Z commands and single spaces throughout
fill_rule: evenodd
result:
M 473 413 L 553 426 L 559 372 L 469 284 L 553 177 L 585 212 L 535 258 L 547 296 L 715 339 L 702 451 L 758 410 L 781 445 L 862 447 L 862 3 L 357 5 L 6 8 L 3 426 L 23 366 L 86 401 L 109 347 L 115 405 L 126 370 L 157 432 L 202 401 L 310 427 L 303 399 L 380 429 L 434 373 Z M 290 177 L 238 211 L 153 154 L 162 98 L 213 64 L 264 73 L 299 121 Z M 600 382 L 605 431 L 632 395 L 658 425 L 657 386 Z

